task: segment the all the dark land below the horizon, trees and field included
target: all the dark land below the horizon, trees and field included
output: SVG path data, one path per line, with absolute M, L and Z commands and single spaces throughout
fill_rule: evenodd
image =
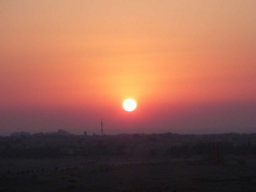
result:
M 0 191 L 256 191 L 256 134 L 13 133 Z

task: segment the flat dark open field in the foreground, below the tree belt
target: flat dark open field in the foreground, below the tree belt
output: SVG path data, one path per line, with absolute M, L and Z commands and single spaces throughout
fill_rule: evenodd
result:
M 5 159 L 0 191 L 256 191 L 256 157 Z

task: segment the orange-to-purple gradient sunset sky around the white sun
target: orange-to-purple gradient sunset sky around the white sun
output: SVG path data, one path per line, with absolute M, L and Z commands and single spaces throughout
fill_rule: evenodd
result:
M 0 134 L 255 132 L 255 34 L 255 0 L 2 0 Z

